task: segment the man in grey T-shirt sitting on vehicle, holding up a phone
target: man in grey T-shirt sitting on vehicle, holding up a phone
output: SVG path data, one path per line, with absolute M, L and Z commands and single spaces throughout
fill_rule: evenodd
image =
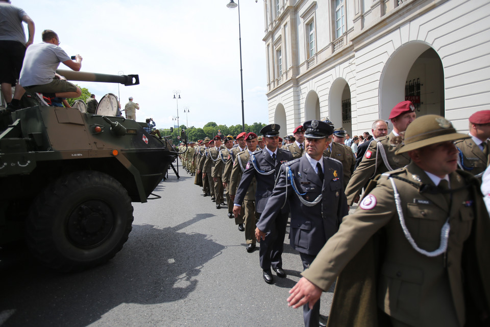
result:
M 59 47 L 58 34 L 51 30 L 42 32 L 42 43 L 32 44 L 26 51 L 26 57 L 20 71 L 20 85 L 30 92 L 43 93 L 45 97 L 78 98 L 82 90 L 56 74 L 60 62 L 78 72 L 82 67 L 82 57 L 71 60 Z M 39 95 L 38 95 L 39 96 Z M 42 100 L 42 96 L 39 96 Z

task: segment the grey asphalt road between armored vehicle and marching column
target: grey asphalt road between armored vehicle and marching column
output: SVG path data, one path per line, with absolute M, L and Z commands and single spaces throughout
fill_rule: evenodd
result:
M 0 326 L 302 326 L 302 309 L 286 302 L 302 271 L 288 234 L 287 277 L 268 285 L 258 248 L 247 253 L 227 209 L 180 173 L 158 185 L 161 199 L 133 203 L 129 240 L 105 265 L 61 274 L 23 247 L 0 250 Z

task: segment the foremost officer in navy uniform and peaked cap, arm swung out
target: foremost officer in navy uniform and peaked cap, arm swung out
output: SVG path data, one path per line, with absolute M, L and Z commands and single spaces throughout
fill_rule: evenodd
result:
M 342 164 L 323 156 L 326 137 L 333 128 L 325 122 L 308 121 L 305 155 L 281 166 L 279 178 L 267 200 L 255 230 L 257 240 L 264 239 L 264 230 L 271 229 L 274 217 L 285 202 L 291 209 L 290 244 L 300 252 L 303 268 L 313 262 L 327 240 L 338 230 L 342 217 L 349 212 L 342 183 Z M 317 327 L 320 302 L 310 310 L 305 305 L 305 326 Z

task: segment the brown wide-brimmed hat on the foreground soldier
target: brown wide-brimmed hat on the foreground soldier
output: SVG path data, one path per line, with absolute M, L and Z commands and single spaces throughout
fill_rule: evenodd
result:
M 457 133 L 453 124 L 442 116 L 427 114 L 415 119 L 405 131 L 403 146 L 395 154 L 420 149 L 428 145 L 470 138 L 468 134 Z

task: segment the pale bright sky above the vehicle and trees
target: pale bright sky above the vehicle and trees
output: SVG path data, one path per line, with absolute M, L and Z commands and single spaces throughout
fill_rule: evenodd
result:
M 134 86 L 74 83 L 97 100 L 120 94 L 123 108 L 132 96 L 140 106 L 137 121 L 151 117 L 157 128 L 174 125 L 177 105 L 180 125 L 241 125 L 238 8 L 228 9 L 228 3 L 12 0 L 34 20 L 34 43 L 42 41 L 43 30 L 55 31 L 69 56 L 83 57 L 81 71 L 138 74 L 140 84 Z M 268 123 L 263 5 L 240 2 L 244 113 L 250 125 Z M 59 68 L 69 69 L 62 63 Z M 178 103 L 174 90 L 180 90 Z

